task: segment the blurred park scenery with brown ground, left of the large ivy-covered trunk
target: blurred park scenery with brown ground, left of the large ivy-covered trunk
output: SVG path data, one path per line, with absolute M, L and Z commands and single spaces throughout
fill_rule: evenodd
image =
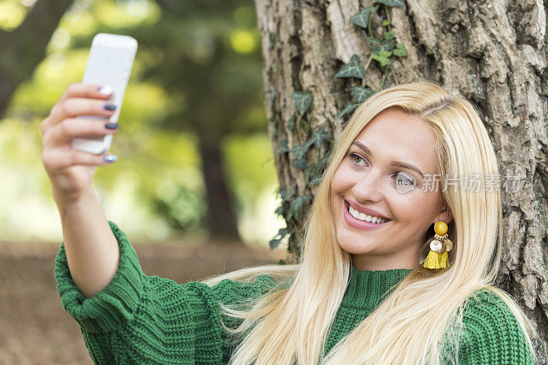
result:
M 0 29 L 15 34 L 36 5 L 0 0 Z M 284 257 L 283 244 L 269 250 L 284 221 L 274 214 L 253 1 L 74 1 L 0 119 L 0 364 L 91 363 L 55 289 L 62 229 L 39 127 L 82 80 L 101 32 L 139 43 L 110 149 L 119 160 L 100 166 L 94 181 L 145 273 L 184 283 Z

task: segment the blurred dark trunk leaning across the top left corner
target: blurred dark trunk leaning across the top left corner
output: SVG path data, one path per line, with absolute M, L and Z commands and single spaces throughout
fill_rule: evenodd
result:
M 51 35 L 72 2 L 38 0 L 14 32 L 0 29 L 0 118 L 17 86 L 30 79 L 44 59 Z

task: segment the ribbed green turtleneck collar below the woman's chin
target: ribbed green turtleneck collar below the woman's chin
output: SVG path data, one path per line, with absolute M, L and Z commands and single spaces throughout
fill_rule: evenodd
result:
M 405 279 L 411 271 L 411 268 L 371 271 L 350 266 L 350 280 L 341 305 L 374 310 L 386 298 L 384 294 L 390 287 Z

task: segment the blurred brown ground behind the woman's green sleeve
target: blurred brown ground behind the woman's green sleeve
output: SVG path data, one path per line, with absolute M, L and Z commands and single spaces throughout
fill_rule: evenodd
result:
M 133 244 L 147 275 L 182 284 L 238 268 L 275 264 L 285 251 L 242 244 Z M 92 364 L 53 277 L 59 243 L 0 242 L 0 364 Z

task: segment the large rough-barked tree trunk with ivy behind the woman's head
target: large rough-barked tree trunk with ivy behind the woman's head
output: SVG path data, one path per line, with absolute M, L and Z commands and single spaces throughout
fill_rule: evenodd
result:
M 398 1 L 403 6 L 380 5 L 373 11 L 368 30 L 350 18 L 377 5 L 372 1 L 256 0 L 264 57 L 264 103 L 282 189 L 279 213 L 286 216 L 289 228 L 299 227 L 302 219 L 291 212 L 291 206 L 296 197 L 310 192 L 307 172 L 293 163 L 299 160 L 300 150 L 293 153 L 292 149 L 307 136 L 299 125 L 293 127 L 294 92 L 310 90 L 314 97 L 303 116 L 312 128 L 310 133 L 325 125 L 330 136 L 336 137 L 344 122 L 338 112 L 351 100 L 351 85 L 349 79 L 334 76 L 353 54 L 369 66 L 362 81 L 373 89 L 382 86 L 385 78 L 395 83 L 414 77 L 441 81 L 479 107 L 495 144 L 501 176 L 525 176 L 518 191 L 502 190 L 506 241 L 499 275 L 503 288 L 534 318 L 546 342 L 547 9 L 538 0 L 414 0 L 406 4 L 394 0 L 393 4 Z M 390 25 L 383 26 L 383 19 Z M 380 53 L 370 49 L 367 38 L 371 34 L 382 38 L 388 30 L 395 32 L 408 55 L 391 57 L 391 64 L 383 68 L 371 62 L 372 51 L 375 57 Z M 323 142 L 321 149 L 308 149 L 308 160 L 323 156 L 326 144 Z M 306 204 L 298 207 L 301 214 L 306 213 Z M 298 247 L 299 242 L 292 243 L 290 238 L 288 260 L 295 262 Z

